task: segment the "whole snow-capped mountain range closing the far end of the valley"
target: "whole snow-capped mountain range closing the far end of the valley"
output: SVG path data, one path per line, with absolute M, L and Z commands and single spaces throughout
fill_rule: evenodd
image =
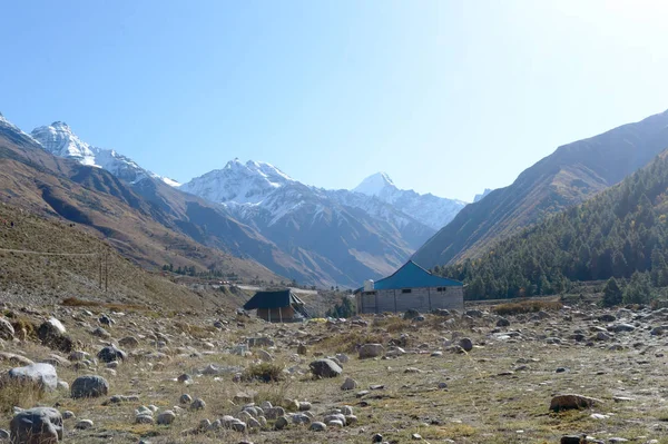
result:
M 391 274 L 465 205 L 401 190 L 382 172 L 353 190 L 326 190 L 304 185 L 271 164 L 238 159 L 180 185 L 115 150 L 87 144 L 61 121 L 22 135 L 55 156 L 108 170 L 165 208 L 187 211 L 189 221 L 183 227 L 188 231 L 188 224 L 196 224 L 197 241 L 233 245 L 230 251 L 305 284 L 355 287 Z M 157 182 L 173 191 L 157 197 Z M 188 195 L 217 206 L 214 213 L 219 214 L 188 198 L 184 204 L 179 196 Z M 210 240 L 218 229 L 212 224 L 222 223 L 222 215 L 234 221 L 230 227 L 240 224 L 235 229 L 243 233 L 242 240 L 230 238 L 229 231 Z

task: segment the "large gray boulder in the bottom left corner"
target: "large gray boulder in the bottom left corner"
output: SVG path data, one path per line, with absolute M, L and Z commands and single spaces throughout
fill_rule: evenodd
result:
M 56 408 L 19 412 L 9 424 L 12 444 L 55 444 L 62 440 L 62 416 Z

